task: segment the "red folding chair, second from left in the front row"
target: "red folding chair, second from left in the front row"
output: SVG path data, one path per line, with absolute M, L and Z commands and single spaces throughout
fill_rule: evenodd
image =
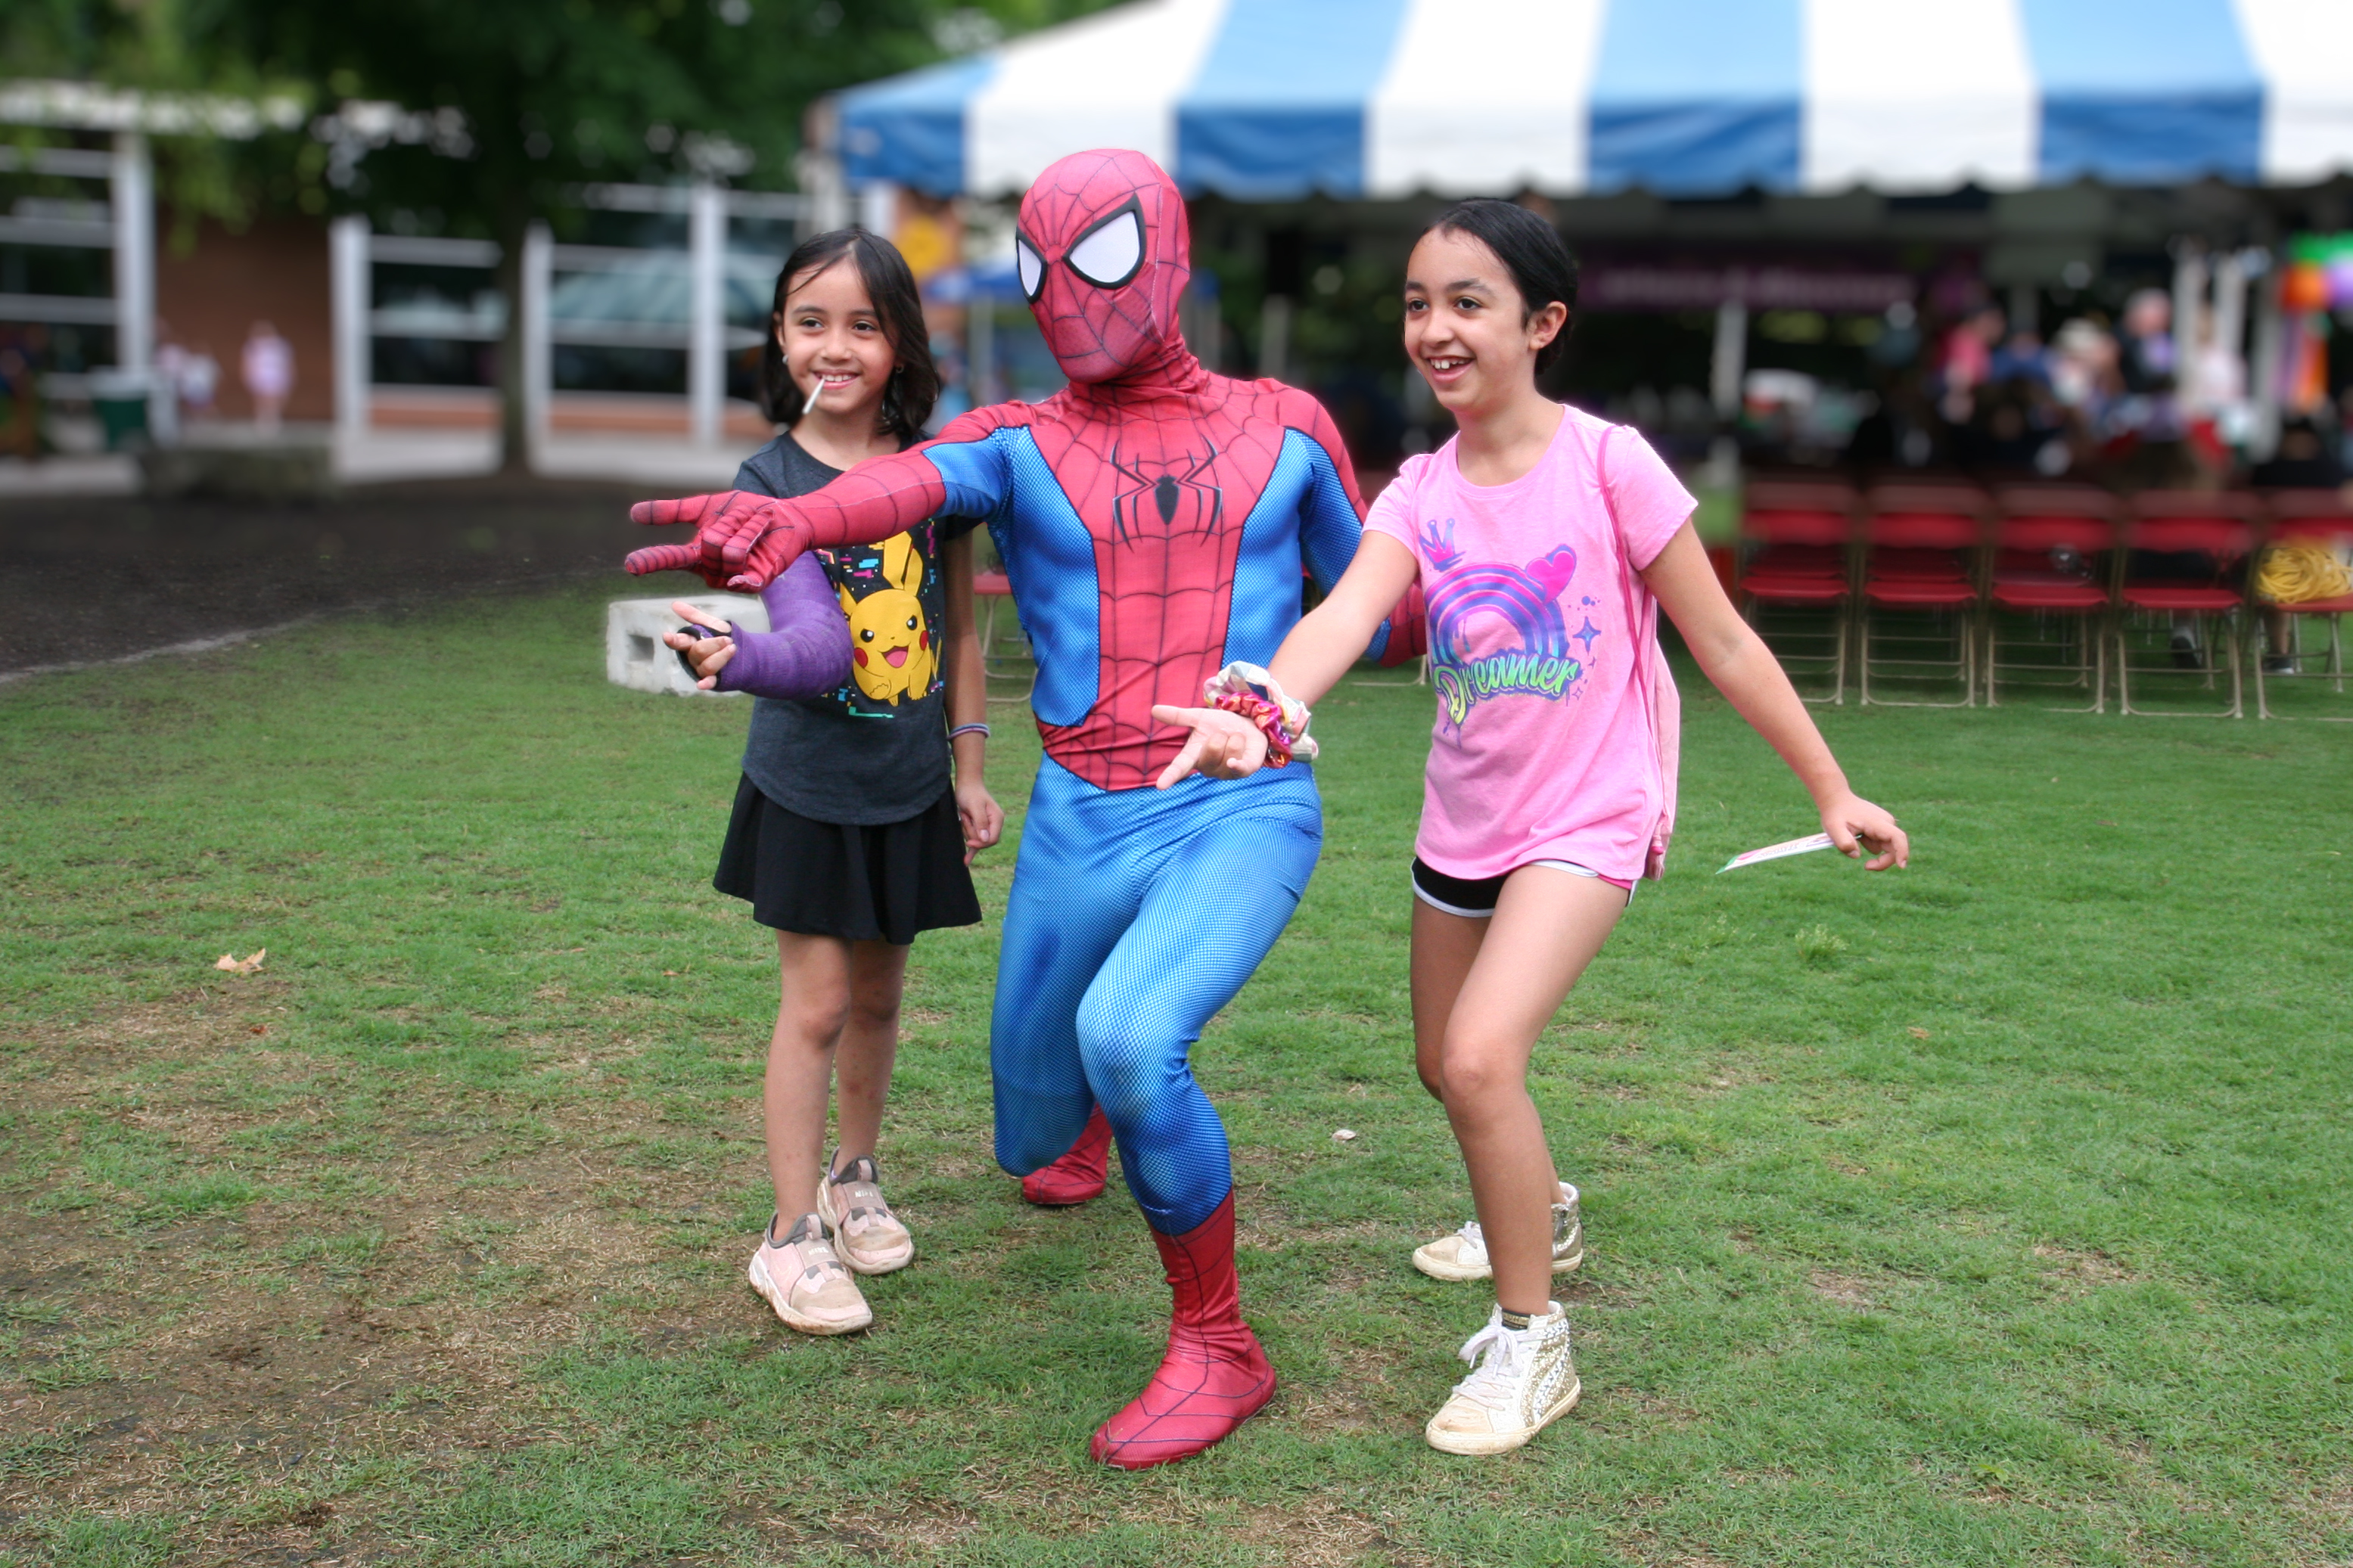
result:
M 1887 484 L 1866 501 L 1864 604 L 1857 651 L 1857 686 L 1861 705 L 1882 708 L 1974 708 L 1977 705 L 1977 555 L 1984 545 L 1984 494 L 1965 487 Z M 1941 632 L 1882 630 L 1880 611 L 1925 614 L 1951 625 L 1951 658 L 1882 658 L 1882 668 L 1904 672 L 1951 670 L 1960 696 L 1951 703 L 1927 698 L 1871 696 L 1873 644 L 1941 644 Z

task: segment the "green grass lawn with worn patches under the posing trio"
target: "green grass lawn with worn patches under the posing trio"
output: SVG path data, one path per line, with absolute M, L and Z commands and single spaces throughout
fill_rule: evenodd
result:
M 744 1286 L 746 710 L 609 689 L 600 604 L 0 689 L 0 1561 L 2353 1559 L 2353 731 L 1833 710 L 1913 870 L 1718 879 L 1812 820 L 1685 682 L 1671 875 L 1537 1053 L 1586 1401 L 1452 1460 L 1487 1300 L 1407 1265 L 1468 1218 L 1405 1013 L 1428 696 L 1344 686 L 1322 867 L 1195 1056 L 1285 1389 L 1129 1476 L 1085 1441 L 1165 1293 L 1118 1187 L 1031 1211 L 991 1161 L 993 922 L 915 950 L 875 1331 Z

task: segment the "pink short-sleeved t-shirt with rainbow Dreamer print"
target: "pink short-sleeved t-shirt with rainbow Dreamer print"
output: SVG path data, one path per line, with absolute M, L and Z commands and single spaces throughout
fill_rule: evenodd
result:
M 1414 853 L 1449 877 L 1574 860 L 1657 877 L 1680 705 L 1638 576 L 1692 515 L 1638 430 L 1562 409 L 1544 458 L 1471 484 L 1454 442 L 1365 517 L 1421 562 L 1438 726 Z

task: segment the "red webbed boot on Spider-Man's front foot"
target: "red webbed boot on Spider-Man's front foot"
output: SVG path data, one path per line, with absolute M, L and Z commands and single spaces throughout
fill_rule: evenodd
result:
M 1160 1371 L 1094 1429 L 1089 1453 L 1120 1469 L 1188 1460 L 1275 1396 L 1275 1368 L 1242 1321 L 1233 1276 L 1233 1194 L 1181 1237 L 1153 1232 L 1176 1300 Z

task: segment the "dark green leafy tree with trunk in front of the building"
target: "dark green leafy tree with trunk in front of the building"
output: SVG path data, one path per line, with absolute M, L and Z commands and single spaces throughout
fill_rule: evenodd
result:
M 819 96 L 1101 0 L 12 0 L 12 75 L 301 85 L 306 139 L 216 153 L 205 209 L 440 212 L 496 240 L 565 223 L 581 181 L 793 188 Z M 19 47 L 21 45 L 21 47 Z M 398 113 L 395 113 L 398 110 Z M 191 186 L 193 190 L 193 186 Z M 511 315 L 513 322 L 513 315 Z M 520 334 L 504 353 L 520 461 Z

